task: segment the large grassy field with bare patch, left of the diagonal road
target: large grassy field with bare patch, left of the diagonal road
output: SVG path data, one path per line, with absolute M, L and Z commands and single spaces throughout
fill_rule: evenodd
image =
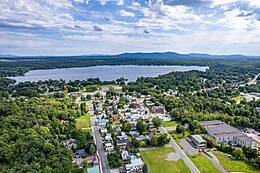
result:
M 183 160 L 165 160 L 168 153 L 175 152 L 173 148 L 160 148 L 141 151 L 142 158 L 147 164 L 150 173 L 189 173 L 189 168 Z

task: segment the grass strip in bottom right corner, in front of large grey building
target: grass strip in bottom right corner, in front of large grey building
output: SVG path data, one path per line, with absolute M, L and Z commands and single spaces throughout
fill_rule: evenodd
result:
M 219 151 L 212 151 L 220 161 L 221 165 L 229 172 L 245 172 L 245 173 L 260 173 L 260 170 L 246 164 L 243 161 L 231 160 L 224 153 Z

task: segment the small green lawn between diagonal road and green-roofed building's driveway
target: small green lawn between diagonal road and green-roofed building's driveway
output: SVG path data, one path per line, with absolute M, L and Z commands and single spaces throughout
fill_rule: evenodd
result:
M 209 159 L 200 154 L 189 155 L 188 157 L 201 173 L 221 173 Z

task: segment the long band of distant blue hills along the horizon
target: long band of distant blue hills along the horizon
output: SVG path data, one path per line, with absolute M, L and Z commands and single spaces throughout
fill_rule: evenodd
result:
M 153 53 L 123 53 L 118 55 L 77 55 L 77 56 L 16 56 L 16 55 L 0 55 L 1 58 L 16 58 L 16 59 L 50 59 L 50 58 L 71 58 L 71 59 L 101 59 L 101 58 L 191 58 L 191 59 L 246 59 L 260 58 L 260 56 L 246 55 L 210 55 L 210 54 L 180 54 L 176 52 L 153 52 Z

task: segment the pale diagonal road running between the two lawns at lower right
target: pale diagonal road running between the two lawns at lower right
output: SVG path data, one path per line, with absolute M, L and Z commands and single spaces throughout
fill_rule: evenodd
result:
M 185 164 L 189 167 L 190 171 L 192 173 L 200 173 L 198 168 L 191 162 L 191 160 L 187 157 L 187 155 L 182 151 L 182 149 L 176 144 L 176 142 L 172 139 L 172 137 L 169 135 L 169 133 L 166 131 L 165 128 L 160 127 L 160 130 L 162 133 L 168 134 L 168 136 L 171 138 L 170 144 L 175 149 L 175 151 L 179 154 L 180 158 L 185 162 Z

